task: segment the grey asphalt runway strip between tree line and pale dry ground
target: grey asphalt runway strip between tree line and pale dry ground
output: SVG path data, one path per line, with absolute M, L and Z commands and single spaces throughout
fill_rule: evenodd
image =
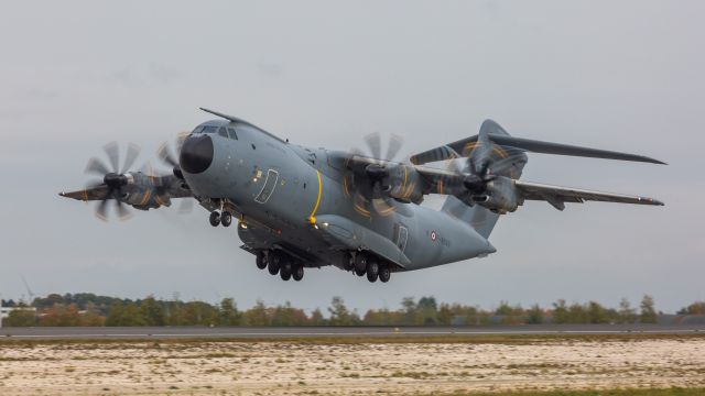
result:
M 1 340 L 292 339 L 365 337 L 705 334 L 705 324 L 525 324 L 478 327 L 101 327 L 1 328 Z

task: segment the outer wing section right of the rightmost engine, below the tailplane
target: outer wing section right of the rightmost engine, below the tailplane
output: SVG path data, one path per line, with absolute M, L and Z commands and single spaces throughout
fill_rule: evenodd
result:
M 524 199 L 545 200 L 558 210 L 565 208 L 565 202 L 601 201 L 636 205 L 663 206 L 664 204 L 647 197 L 638 197 L 622 194 L 601 193 L 579 188 L 551 186 L 539 183 L 514 180 L 514 187 Z

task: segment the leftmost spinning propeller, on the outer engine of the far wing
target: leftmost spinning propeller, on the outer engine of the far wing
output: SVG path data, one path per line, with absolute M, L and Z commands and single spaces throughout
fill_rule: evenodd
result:
M 105 191 L 104 198 L 96 206 L 96 217 L 100 220 L 108 221 L 108 200 L 113 200 L 116 212 L 120 220 L 128 220 L 132 217 L 127 205 L 120 200 L 123 194 L 123 187 L 131 183 L 132 176 L 127 172 L 134 161 L 140 155 L 140 147 L 134 144 L 128 144 L 128 151 L 124 157 L 124 163 L 120 167 L 120 147 L 117 142 L 110 142 L 102 146 L 104 152 L 108 156 L 110 166 L 98 158 L 91 157 L 86 165 L 86 174 L 102 177 L 101 180 L 96 180 L 89 185 L 94 188 L 101 188 Z

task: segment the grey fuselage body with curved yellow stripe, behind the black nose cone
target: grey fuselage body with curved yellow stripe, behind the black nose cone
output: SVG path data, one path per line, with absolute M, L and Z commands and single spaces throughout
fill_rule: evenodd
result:
M 184 147 L 204 127 L 217 130 L 208 133 L 213 161 L 198 173 L 182 166 L 184 179 L 204 207 L 239 218 L 238 234 L 250 251 L 281 249 L 305 266 L 341 268 L 350 252 L 369 251 L 393 263 L 393 271 L 495 252 L 470 223 L 444 211 L 394 200 L 384 213 L 356 208 L 344 186 L 346 153 L 290 144 L 249 123 L 221 120 L 199 125 Z

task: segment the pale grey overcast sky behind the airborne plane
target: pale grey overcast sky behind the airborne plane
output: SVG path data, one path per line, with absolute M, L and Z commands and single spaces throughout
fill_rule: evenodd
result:
M 705 299 L 705 2 L 14 1 L 0 6 L 0 295 L 258 298 L 365 310 L 404 296 L 490 308 L 644 293 Z M 528 202 L 484 260 L 369 284 L 336 268 L 284 283 L 207 212 L 104 223 L 58 197 L 90 156 L 160 142 L 209 107 L 292 142 L 347 150 L 375 131 L 411 154 L 477 133 L 634 152 L 669 166 L 532 154 L 524 179 L 665 207 Z M 430 199 L 433 204 L 433 199 Z M 437 201 L 436 201 L 437 204 Z

